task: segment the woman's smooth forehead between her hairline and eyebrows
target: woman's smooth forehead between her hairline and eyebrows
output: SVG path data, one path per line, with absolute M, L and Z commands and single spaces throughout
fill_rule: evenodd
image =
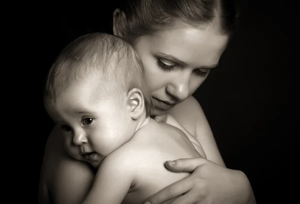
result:
M 139 41 L 151 53 L 172 55 L 191 66 L 208 66 L 218 62 L 226 48 L 228 36 L 217 34 L 212 28 L 180 26 L 143 36 Z

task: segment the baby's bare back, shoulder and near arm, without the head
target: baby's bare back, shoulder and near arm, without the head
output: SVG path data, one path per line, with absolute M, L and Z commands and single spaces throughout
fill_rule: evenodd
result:
M 146 120 L 128 142 L 103 159 L 83 203 L 143 203 L 189 175 L 163 166 L 165 159 L 201 157 L 188 137 L 172 125 Z

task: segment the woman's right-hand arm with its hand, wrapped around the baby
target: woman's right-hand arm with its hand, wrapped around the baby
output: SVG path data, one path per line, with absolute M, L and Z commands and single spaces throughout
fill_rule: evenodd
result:
M 161 204 L 179 195 L 172 204 L 255 204 L 247 176 L 242 171 L 224 166 L 202 108 L 193 97 L 186 100 L 169 113 L 192 135 L 196 135 L 208 160 L 183 158 L 176 160 L 174 164 L 166 162 L 166 167 L 171 171 L 187 171 L 191 174 L 160 190 L 148 200 L 151 204 Z

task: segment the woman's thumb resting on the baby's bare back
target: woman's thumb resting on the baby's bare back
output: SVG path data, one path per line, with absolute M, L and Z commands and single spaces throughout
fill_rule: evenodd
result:
M 207 163 L 207 160 L 202 157 L 196 158 L 180 158 L 173 161 L 166 161 L 165 166 L 173 172 L 192 172 L 197 167 Z

